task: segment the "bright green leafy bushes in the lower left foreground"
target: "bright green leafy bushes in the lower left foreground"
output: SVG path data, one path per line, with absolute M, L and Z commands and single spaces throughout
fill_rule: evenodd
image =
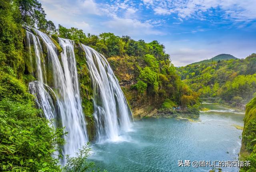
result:
M 6 170 L 60 171 L 51 155 L 64 143 L 63 130 L 50 128 L 31 104 L 0 101 L 0 166 Z

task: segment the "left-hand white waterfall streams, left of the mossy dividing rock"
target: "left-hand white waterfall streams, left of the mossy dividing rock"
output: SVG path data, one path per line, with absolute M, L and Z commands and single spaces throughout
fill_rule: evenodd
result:
M 43 110 L 45 117 L 54 120 L 54 127 L 65 127 L 68 134 L 64 136 L 66 144 L 62 148 L 62 154 L 74 156 L 78 148 L 88 142 L 78 86 L 74 42 L 59 38 L 63 49 L 59 58 L 51 38 L 39 30 L 33 30 L 37 36 L 29 31 L 26 32 L 28 48 L 34 46 L 34 57 L 30 58 L 35 59 L 37 70 L 37 81 L 29 84 L 30 93 L 36 96 L 37 106 Z M 43 56 L 42 46 L 47 48 L 47 59 Z M 46 60 L 47 65 L 51 66 L 51 73 L 45 70 Z M 54 89 L 47 85 L 47 75 L 53 76 Z

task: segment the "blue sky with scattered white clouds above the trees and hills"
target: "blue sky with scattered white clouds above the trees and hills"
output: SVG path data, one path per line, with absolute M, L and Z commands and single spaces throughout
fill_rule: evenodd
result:
M 164 44 L 175 66 L 256 52 L 256 0 L 40 0 L 56 26 Z

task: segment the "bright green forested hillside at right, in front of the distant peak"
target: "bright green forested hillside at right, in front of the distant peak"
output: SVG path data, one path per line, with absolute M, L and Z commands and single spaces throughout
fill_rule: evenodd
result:
M 245 59 L 190 64 L 177 70 L 200 97 L 247 103 L 256 96 L 256 54 Z

